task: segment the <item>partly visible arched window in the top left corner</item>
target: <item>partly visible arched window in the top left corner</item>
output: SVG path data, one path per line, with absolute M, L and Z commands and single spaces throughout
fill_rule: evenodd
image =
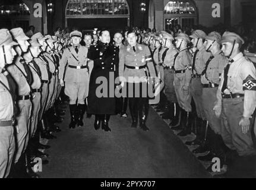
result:
M 30 15 L 29 7 L 26 4 L 1 5 L 0 15 Z

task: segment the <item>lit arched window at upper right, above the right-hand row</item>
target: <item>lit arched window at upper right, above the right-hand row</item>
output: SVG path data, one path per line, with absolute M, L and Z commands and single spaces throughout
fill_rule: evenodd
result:
M 169 1 L 164 9 L 165 30 L 177 25 L 185 29 L 197 24 L 197 9 L 191 0 Z

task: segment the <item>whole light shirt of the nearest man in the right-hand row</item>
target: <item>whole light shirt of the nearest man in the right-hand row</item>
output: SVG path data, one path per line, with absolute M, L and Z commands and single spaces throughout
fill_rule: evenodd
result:
M 227 88 L 232 94 L 244 94 L 244 113 L 243 116 L 250 118 L 256 106 L 256 71 L 252 62 L 245 59 L 242 53 L 238 53 L 233 58 L 227 74 Z M 230 63 L 229 63 L 230 64 Z M 223 72 L 224 73 L 224 72 Z M 224 74 L 217 91 L 218 104 L 222 105 L 222 85 Z M 226 93 L 226 91 L 224 91 Z M 226 93 L 227 94 L 227 93 Z

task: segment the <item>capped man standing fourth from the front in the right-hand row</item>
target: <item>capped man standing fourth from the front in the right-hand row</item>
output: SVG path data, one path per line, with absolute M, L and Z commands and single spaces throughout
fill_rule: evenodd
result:
M 174 87 L 181 107 L 181 122 L 178 126 L 172 126 L 172 129 L 188 131 L 191 126 L 191 54 L 187 47 L 190 39 L 184 33 L 180 33 L 175 39 L 179 53 L 175 55 L 173 61 Z

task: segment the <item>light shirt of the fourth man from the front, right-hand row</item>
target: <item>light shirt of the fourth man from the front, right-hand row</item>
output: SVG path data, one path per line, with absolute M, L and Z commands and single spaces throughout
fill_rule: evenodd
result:
M 185 85 L 189 86 L 191 81 L 191 53 L 188 49 L 181 50 L 174 62 L 175 71 L 186 70 L 185 73 L 176 73 L 175 76 L 185 81 Z

